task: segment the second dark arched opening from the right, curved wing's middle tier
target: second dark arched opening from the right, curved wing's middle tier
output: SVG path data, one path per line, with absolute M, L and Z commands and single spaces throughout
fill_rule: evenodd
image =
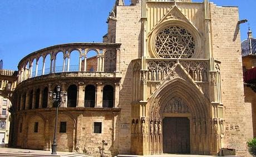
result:
M 94 85 L 87 85 L 85 88 L 85 108 L 95 107 L 96 89 Z

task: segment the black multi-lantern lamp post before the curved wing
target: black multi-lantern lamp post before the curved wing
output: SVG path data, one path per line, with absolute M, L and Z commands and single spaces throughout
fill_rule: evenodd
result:
M 52 144 L 52 154 L 57 154 L 57 140 L 56 140 L 56 131 L 57 131 L 57 119 L 58 119 L 58 108 L 60 107 L 61 103 L 66 102 L 66 93 L 61 91 L 60 85 L 56 87 L 56 93 L 52 91 L 49 92 L 49 97 L 52 98 L 52 102 L 57 102 L 56 108 L 56 115 L 55 115 L 55 128 L 54 128 L 54 135 L 53 135 L 53 144 Z

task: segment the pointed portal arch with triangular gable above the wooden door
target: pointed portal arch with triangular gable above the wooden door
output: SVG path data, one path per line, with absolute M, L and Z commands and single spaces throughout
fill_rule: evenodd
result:
M 209 117 L 209 100 L 179 63 L 149 98 L 149 116 L 160 118 L 166 103 L 174 97 L 182 98 L 196 117 Z

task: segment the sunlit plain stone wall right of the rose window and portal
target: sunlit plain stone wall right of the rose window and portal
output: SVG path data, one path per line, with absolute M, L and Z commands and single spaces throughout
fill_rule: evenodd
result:
M 253 132 L 251 105 L 244 103 L 238 8 L 216 7 L 213 3 L 210 7 L 213 57 L 221 61 L 224 148 L 234 148 L 237 155 L 244 156 Z

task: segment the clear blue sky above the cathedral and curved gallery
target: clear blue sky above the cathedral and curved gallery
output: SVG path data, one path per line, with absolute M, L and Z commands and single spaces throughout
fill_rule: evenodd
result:
M 194 2 L 202 2 L 195 0 Z M 1 0 L 0 59 L 3 68 L 17 70 L 29 53 L 55 44 L 102 42 L 106 19 L 115 0 Z M 255 0 L 211 0 L 218 6 L 238 6 L 256 32 Z M 130 4 L 129 0 L 125 1 Z M 241 25 L 242 40 L 248 24 Z M 256 36 L 256 35 L 255 35 Z

